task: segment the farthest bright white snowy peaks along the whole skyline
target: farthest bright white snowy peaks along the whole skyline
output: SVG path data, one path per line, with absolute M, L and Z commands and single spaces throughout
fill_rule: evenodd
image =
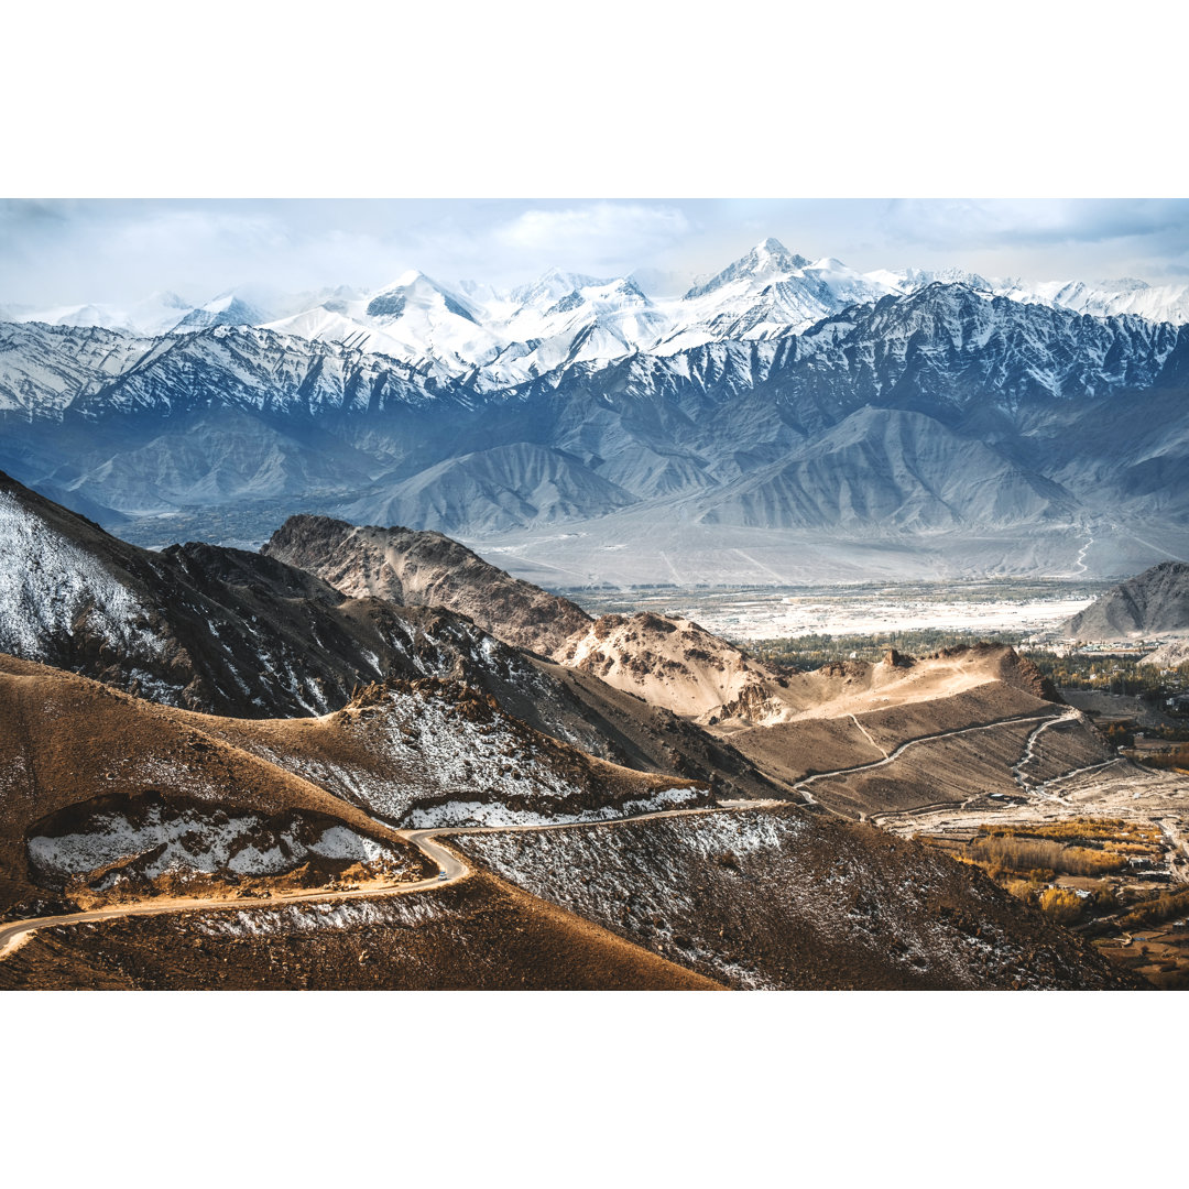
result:
M 0 314 L 11 321 L 97 326 L 150 338 L 212 326 L 265 327 L 389 356 L 427 377 L 465 379 L 490 392 L 574 364 L 799 334 L 851 306 L 908 296 L 937 283 L 1095 317 L 1189 321 L 1189 284 L 1030 282 L 957 268 L 858 272 L 833 257 L 811 260 L 772 238 L 678 297 L 650 296 L 631 277 L 560 269 L 511 290 L 477 282 L 445 285 L 413 270 L 372 291 L 340 285 L 281 294 L 247 285 L 201 306 L 164 292 L 126 308 L 10 306 Z

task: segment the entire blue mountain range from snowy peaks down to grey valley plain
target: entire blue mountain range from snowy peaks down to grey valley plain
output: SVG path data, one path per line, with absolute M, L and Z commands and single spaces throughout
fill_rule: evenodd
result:
M 409 273 L 165 334 L 8 322 L 0 466 L 146 545 L 303 510 L 552 586 L 1116 574 L 1189 554 L 1187 312 L 768 239 L 671 301 Z

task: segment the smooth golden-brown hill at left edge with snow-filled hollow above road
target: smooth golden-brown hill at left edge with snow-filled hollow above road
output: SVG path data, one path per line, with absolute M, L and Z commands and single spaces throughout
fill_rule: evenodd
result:
M 419 877 L 390 828 L 203 725 L 0 655 L 0 913 L 348 869 Z

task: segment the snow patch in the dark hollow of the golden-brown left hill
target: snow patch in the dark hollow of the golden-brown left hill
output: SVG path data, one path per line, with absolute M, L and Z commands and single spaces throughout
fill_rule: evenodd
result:
M 143 860 L 137 862 L 138 873 L 156 879 L 166 872 L 279 875 L 300 867 L 309 855 L 367 863 L 397 858 L 388 847 L 342 825 L 308 837 L 309 831 L 297 825 L 275 831 L 256 813 L 231 817 L 184 810 L 174 814 L 153 805 L 137 822 L 109 812 L 95 814 L 88 826 L 55 838 L 30 838 L 30 861 L 45 874 L 68 880 L 137 860 Z

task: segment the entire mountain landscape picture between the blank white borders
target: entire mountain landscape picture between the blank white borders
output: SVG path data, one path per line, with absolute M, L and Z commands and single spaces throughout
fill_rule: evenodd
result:
M 0 210 L 0 988 L 1189 987 L 1189 203 Z

